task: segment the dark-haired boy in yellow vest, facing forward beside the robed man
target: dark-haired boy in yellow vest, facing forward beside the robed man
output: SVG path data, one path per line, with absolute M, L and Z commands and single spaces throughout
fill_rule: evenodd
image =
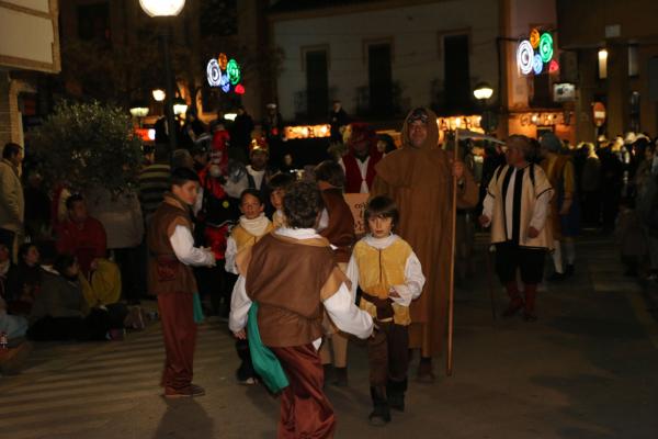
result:
M 418 257 L 399 236 L 393 234 L 398 209 L 387 196 L 373 198 L 365 209 L 368 234 L 354 246 L 348 278 L 352 293 L 363 291 L 360 307 L 377 327 L 368 339 L 372 425 L 390 421 L 390 408 L 405 410 L 409 362 L 409 305 L 418 299 L 424 277 Z

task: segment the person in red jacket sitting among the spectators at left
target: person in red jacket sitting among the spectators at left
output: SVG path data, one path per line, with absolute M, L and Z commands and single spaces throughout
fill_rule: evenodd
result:
M 89 216 L 87 202 L 80 194 L 66 200 L 68 218 L 59 226 L 57 252 L 75 256 L 78 259 L 82 275 L 95 266 L 97 258 L 104 258 L 107 252 L 107 235 L 103 224 Z

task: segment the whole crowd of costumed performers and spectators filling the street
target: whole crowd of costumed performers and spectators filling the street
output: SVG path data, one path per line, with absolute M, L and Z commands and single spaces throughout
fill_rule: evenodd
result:
M 345 147 L 305 172 L 281 148 L 275 106 L 262 135 L 243 109 L 238 117 L 206 128 L 193 116 L 180 149 L 145 147 L 137 189 L 121 194 L 46 191 L 36 172 L 23 184 L 23 150 L 4 146 L 0 331 L 15 358 L 25 339 L 122 339 L 145 327 L 140 301 L 156 295 L 166 397 L 205 393 L 193 383 L 196 325 L 214 314 L 236 337 L 236 380 L 281 392 L 279 437 L 331 437 L 324 387 L 351 385 L 352 336 L 367 339 L 371 424 L 405 410 L 415 351 L 417 379 L 434 381 L 452 240 L 467 236 L 455 238 L 453 206 L 491 229 L 506 317 L 538 318 L 545 255 L 546 280 L 574 274 L 582 226 L 616 227 L 627 274 L 658 279 L 658 160 L 646 135 L 574 149 L 553 133 L 512 135 L 485 148 L 478 184 L 467 154 L 453 160 L 439 145 L 428 109 L 409 112 L 396 148 L 334 104 L 331 137 Z M 364 235 L 345 192 L 368 194 Z

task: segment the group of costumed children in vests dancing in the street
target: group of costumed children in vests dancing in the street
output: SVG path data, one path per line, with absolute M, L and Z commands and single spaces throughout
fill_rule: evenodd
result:
M 169 204 L 163 207 L 167 215 L 158 216 L 169 224 L 154 227 L 160 233 L 159 240 L 156 233 L 150 238 L 154 244 L 171 243 L 170 251 L 158 245 L 151 247 L 150 279 L 161 286 L 175 282 L 171 278 L 175 278 L 177 270 L 186 273 L 189 264 L 214 263 L 204 256 L 206 249 L 190 248 L 193 244 L 186 234 L 185 244 L 180 243 L 178 227 L 190 227 L 191 223 L 184 209 L 177 219 L 173 207 L 182 204 L 183 187 L 188 184 L 192 190 L 197 180 L 194 173 L 183 172 L 186 177 L 180 178 L 178 170 L 174 177 L 177 172 L 179 178 L 174 178 Z M 238 274 L 229 316 L 229 329 L 237 338 L 242 360 L 237 376 L 242 383 L 258 381 L 250 356 L 251 333 L 247 331 L 251 315 L 258 320 L 259 342 L 273 353 L 287 378 L 287 386 L 281 391 L 280 438 L 333 436 L 336 420 L 324 386 L 330 372 L 333 384 L 348 384 L 350 335 L 367 340 L 373 401 L 370 423 L 385 425 L 392 419 L 390 409 L 405 410 L 409 305 L 424 284 L 420 261 L 394 233 L 398 209 L 393 200 L 374 196 L 368 201 L 364 214 L 367 233 L 356 240 L 354 219 L 342 196 L 342 168 L 333 161 L 322 162 L 315 178 L 309 182 L 295 181 L 290 175 L 274 176 L 269 181 L 270 202 L 275 209 L 272 221 L 264 214 L 261 192 L 246 190 L 240 199 L 242 216 L 227 243 L 226 271 Z M 191 194 L 188 200 L 192 201 Z M 159 254 L 152 251 L 154 247 L 160 248 Z M 195 250 L 196 258 L 188 255 L 181 259 L 183 247 L 188 254 Z M 173 261 L 172 255 L 177 257 Z M 185 290 L 178 293 L 192 303 L 196 285 L 193 277 L 184 278 L 188 283 L 173 290 Z M 167 293 L 172 289 L 160 290 Z M 175 315 L 178 331 L 181 318 L 186 320 L 183 333 L 188 335 L 186 344 L 193 346 L 189 338 L 195 333 L 193 316 L 186 318 L 183 314 L 192 314 L 194 304 L 182 306 L 185 312 L 181 312 L 180 303 L 177 309 L 172 305 L 178 302 L 164 295 L 158 296 L 160 305 L 164 302 L 161 312 Z M 254 305 L 258 312 L 250 314 Z M 163 316 L 163 326 L 167 322 Z M 163 328 L 168 347 L 166 395 L 202 394 L 201 387 L 192 384 L 189 347 L 180 346 L 182 337 L 175 333 Z

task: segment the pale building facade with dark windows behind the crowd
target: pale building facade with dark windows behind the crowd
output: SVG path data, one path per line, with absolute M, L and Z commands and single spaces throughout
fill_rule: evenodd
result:
M 339 100 L 382 127 L 399 127 L 409 109 L 430 106 L 462 116 L 447 130 L 481 124 L 501 137 L 553 131 L 574 139 L 574 104 L 553 97 L 561 80 L 554 1 L 280 0 L 270 26 L 285 54 L 276 87 L 284 119 L 319 122 Z M 555 66 L 527 76 L 517 49 L 533 29 L 553 36 Z M 483 81 L 494 89 L 484 104 L 473 95 Z M 491 117 L 481 123 L 473 115 L 485 109 Z

